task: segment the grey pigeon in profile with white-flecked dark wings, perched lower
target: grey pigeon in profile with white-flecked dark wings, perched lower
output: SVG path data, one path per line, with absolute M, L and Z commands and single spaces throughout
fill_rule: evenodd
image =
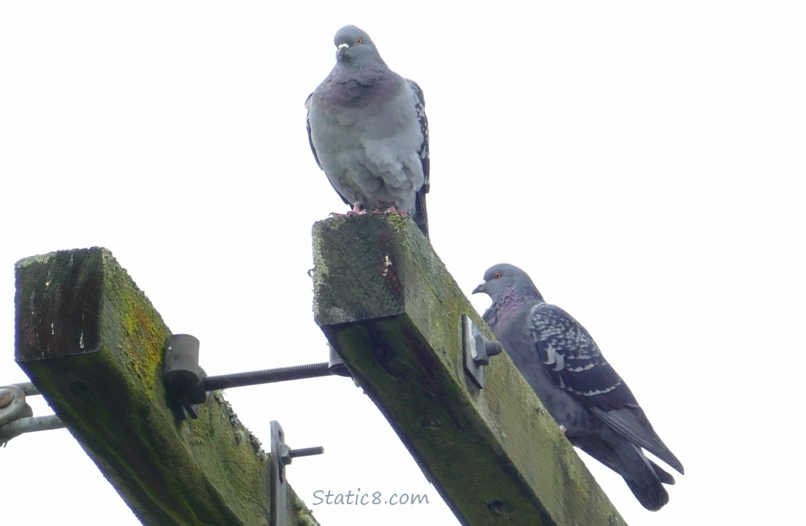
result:
M 654 432 L 588 331 L 563 309 L 544 302 L 516 266 L 490 267 L 477 292 L 492 298 L 484 321 L 571 444 L 620 474 L 643 507 L 656 511 L 669 502 L 663 484 L 675 479 L 646 458 L 642 448 L 681 474 L 683 465 Z

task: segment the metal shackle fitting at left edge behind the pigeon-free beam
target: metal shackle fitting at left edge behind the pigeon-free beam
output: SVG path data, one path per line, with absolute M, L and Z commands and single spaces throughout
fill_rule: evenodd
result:
M 31 382 L 0 386 L 0 445 L 23 433 L 47 431 L 67 426 L 56 415 L 34 416 L 25 396 L 41 394 Z

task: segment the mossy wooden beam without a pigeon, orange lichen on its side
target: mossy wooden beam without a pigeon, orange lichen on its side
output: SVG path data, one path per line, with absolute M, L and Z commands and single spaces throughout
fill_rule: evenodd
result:
M 108 250 L 28 257 L 16 279 L 19 365 L 143 524 L 269 524 L 268 455 L 220 394 L 197 420 L 169 409 L 168 328 Z

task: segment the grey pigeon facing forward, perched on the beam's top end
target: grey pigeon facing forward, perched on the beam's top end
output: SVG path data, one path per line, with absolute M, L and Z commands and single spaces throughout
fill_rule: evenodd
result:
M 428 121 L 417 82 L 393 72 L 366 32 L 336 32 L 336 65 L 308 96 L 319 168 L 351 213 L 399 211 L 428 236 Z

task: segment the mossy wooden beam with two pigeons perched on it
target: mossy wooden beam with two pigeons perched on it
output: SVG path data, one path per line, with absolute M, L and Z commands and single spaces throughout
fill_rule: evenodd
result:
M 492 335 L 410 219 L 315 223 L 314 265 L 316 322 L 463 524 L 625 524 L 509 357 L 465 374 L 462 315 Z

